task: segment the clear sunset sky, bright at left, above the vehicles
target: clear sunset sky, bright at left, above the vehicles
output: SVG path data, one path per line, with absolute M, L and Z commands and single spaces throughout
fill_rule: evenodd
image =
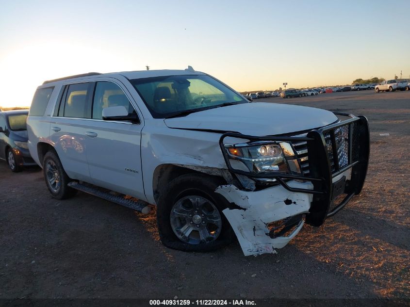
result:
M 409 12 L 409 0 L 2 1 L 0 106 L 29 106 L 45 80 L 146 65 L 191 65 L 238 91 L 410 78 Z

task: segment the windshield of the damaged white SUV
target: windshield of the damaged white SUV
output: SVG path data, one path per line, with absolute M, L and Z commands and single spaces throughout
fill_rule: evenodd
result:
M 130 81 L 154 118 L 196 112 L 222 105 L 249 103 L 207 75 L 164 76 Z

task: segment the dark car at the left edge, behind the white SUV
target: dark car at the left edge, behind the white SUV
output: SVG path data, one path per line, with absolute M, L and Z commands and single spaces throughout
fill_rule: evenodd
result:
M 0 112 L 0 159 L 5 160 L 13 172 L 23 166 L 37 165 L 27 146 L 26 119 L 29 110 Z

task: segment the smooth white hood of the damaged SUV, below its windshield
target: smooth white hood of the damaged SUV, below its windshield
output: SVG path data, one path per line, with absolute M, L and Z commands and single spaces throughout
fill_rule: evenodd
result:
M 255 102 L 164 119 L 169 128 L 236 131 L 264 136 L 314 129 L 337 121 L 330 111 L 288 104 Z

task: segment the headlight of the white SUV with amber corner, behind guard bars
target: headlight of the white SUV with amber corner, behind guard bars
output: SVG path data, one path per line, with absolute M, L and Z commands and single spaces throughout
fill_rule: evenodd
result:
M 225 149 L 234 169 L 252 173 L 289 174 L 285 156 L 293 156 L 294 153 L 288 143 L 282 143 L 243 143 L 225 145 Z

